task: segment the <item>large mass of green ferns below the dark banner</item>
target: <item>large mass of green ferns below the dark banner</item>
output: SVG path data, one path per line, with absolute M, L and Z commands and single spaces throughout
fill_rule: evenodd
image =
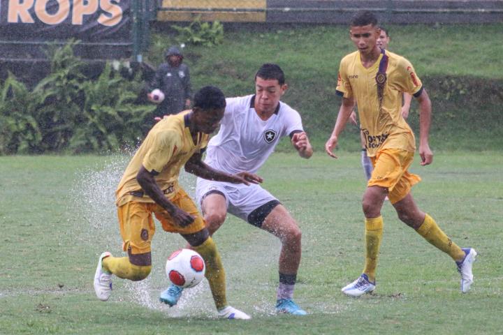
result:
M 70 40 L 49 45 L 50 75 L 33 91 L 13 75 L 0 82 L 0 154 L 109 151 L 134 146 L 155 105 L 138 103 L 140 73 L 107 63 L 97 80 L 83 74 Z

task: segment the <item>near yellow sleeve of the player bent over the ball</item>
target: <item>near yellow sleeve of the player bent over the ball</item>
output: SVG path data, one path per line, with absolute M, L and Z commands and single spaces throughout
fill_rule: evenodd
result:
M 180 147 L 180 135 L 175 131 L 157 133 L 143 158 L 143 166 L 148 172 L 161 172 Z

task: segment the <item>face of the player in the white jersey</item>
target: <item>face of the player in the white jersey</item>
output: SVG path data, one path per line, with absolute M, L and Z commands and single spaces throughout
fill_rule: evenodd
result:
M 286 91 L 286 84 L 280 85 L 277 79 L 256 77 L 255 110 L 259 113 L 272 114 L 284 91 Z

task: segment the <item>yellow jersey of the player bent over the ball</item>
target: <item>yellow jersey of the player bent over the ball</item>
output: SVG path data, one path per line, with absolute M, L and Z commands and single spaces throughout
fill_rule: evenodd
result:
M 147 171 L 158 173 L 154 179 L 166 197 L 170 198 L 177 193 L 180 188 L 178 185 L 180 169 L 192 155 L 203 152 L 210 136 L 198 133 L 197 141 L 194 143 L 189 130 L 189 113 L 187 110 L 165 117 L 150 130 L 117 186 L 115 191 L 117 206 L 120 207 L 133 199 L 138 202 L 154 202 L 145 194 L 142 196 L 140 193 L 138 196 L 142 188 L 136 180 L 136 174 L 142 165 Z M 131 192 L 136 195 L 132 195 Z

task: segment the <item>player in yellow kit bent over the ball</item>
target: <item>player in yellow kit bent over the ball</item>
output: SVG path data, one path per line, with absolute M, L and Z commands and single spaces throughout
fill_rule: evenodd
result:
M 203 256 L 219 315 L 250 318 L 228 306 L 219 252 L 194 201 L 178 184 L 182 166 L 206 179 L 247 185 L 261 182 L 256 174 L 228 174 L 201 161 L 209 134 L 219 126 L 225 107 L 225 96 L 217 87 L 203 87 L 194 97 L 192 110 L 159 121 L 129 162 L 116 191 L 119 228 L 127 257 L 116 258 L 108 252 L 99 257 L 94 289 L 102 301 L 110 297 L 112 274 L 131 281 L 142 281 L 150 274 L 151 242 L 156 230 L 154 214 L 163 230 L 180 233 Z

